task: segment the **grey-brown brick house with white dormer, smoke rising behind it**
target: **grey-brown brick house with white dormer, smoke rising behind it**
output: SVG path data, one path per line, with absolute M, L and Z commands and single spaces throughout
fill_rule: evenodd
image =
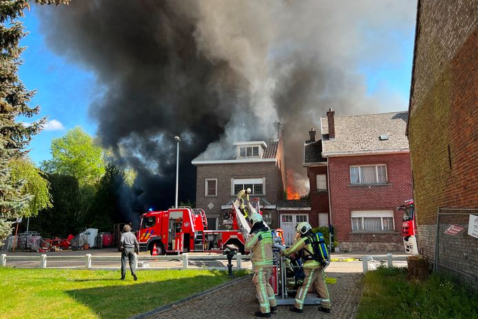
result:
M 275 141 L 242 141 L 231 147 L 233 157 L 191 162 L 197 167 L 196 207 L 205 210 L 209 229 L 225 229 L 236 194 L 249 187 L 251 201 L 260 200 L 264 219 L 278 227 L 276 204 L 287 185 L 282 128 Z

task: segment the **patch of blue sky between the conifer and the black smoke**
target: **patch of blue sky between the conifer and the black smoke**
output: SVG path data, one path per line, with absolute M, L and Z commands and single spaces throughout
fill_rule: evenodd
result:
M 40 163 L 51 158 L 52 138 L 63 136 L 67 130 L 79 125 L 88 134 L 95 134 L 96 123 L 88 116 L 87 110 L 98 92 L 92 72 L 50 51 L 39 31 L 34 6 L 25 13 L 23 23 L 29 34 L 21 41 L 27 50 L 22 55 L 19 76 L 28 90 L 37 90 L 30 105 L 40 105 L 41 111 L 34 119 L 48 116 L 51 121 L 30 143 L 30 157 L 35 163 Z

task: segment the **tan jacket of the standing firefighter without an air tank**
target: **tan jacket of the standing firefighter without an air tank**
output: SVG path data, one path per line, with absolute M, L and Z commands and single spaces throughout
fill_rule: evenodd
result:
M 252 252 L 253 271 L 272 267 L 272 234 L 269 229 L 262 228 L 258 232 L 251 233 L 245 249 Z

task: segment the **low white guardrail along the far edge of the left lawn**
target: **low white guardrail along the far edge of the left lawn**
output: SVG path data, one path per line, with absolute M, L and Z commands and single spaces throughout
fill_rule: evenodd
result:
M 242 269 L 242 260 L 250 260 L 251 256 L 237 254 L 235 256 L 236 267 L 235 269 Z M 120 269 L 121 267 L 92 267 L 93 261 L 116 261 L 121 262 L 121 256 L 94 256 L 92 254 L 86 254 L 84 256 L 47 256 L 42 254 L 40 256 L 7 256 L 6 254 L 0 255 L 1 267 L 6 267 L 7 260 L 17 261 L 39 261 L 39 268 L 47 267 L 47 260 L 63 260 L 63 261 L 83 261 L 85 269 Z M 178 260 L 183 262 L 183 267 L 145 267 L 145 263 L 155 260 Z M 181 254 L 175 256 L 136 256 L 135 263 L 136 269 L 188 269 L 189 260 L 227 260 L 227 256 L 224 255 L 209 255 L 209 256 L 188 256 L 188 254 Z M 138 263 L 143 262 L 143 267 L 138 267 Z M 50 268 L 71 268 L 71 267 L 50 267 Z M 200 269 L 217 269 L 227 270 L 227 267 L 198 267 Z

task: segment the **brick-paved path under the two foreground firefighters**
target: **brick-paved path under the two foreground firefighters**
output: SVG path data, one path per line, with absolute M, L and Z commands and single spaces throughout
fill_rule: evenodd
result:
M 332 302 L 330 314 L 317 311 L 317 306 L 304 306 L 303 313 L 293 313 L 289 311 L 289 306 L 279 306 L 272 318 L 355 318 L 362 296 L 362 274 L 327 271 L 327 276 L 337 278 L 335 285 L 328 285 Z M 254 318 L 254 312 L 258 309 L 252 276 L 247 276 L 234 285 L 180 303 L 147 318 Z

